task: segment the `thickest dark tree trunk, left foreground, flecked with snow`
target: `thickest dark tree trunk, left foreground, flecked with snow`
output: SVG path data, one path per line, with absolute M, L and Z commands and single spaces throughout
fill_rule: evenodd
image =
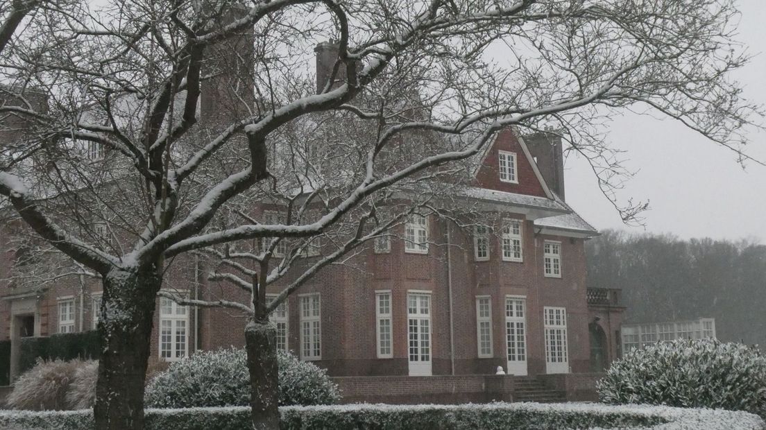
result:
M 160 285 L 162 277 L 154 269 L 114 269 L 103 279 L 103 354 L 93 409 L 100 430 L 144 428 L 144 380 Z

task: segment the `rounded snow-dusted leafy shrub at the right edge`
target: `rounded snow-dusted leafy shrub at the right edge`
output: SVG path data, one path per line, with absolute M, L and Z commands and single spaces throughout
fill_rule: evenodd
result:
M 742 344 L 675 340 L 631 350 L 597 384 L 608 404 L 730 409 L 766 416 L 766 357 Z

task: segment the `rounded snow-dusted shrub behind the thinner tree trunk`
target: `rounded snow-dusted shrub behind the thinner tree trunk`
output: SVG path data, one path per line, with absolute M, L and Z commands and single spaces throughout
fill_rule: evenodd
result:
M 280 405 L 321 405 L 337 402 L 338 387 L 325 370 L 280 351 Z M 247 353 L 228 349 L 195 353 L 172 363 L 146 386 L 145 402 L 153 408 L 247 406 L 250 374 Z

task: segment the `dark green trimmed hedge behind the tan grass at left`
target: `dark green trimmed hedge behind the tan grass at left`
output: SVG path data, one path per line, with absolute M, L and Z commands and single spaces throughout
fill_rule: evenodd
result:
M 98 331 L 54 334 L 49 337 L 22 337 L 18 368 L 21 373 L 30 370 L 42 360 L 98 360 L 101 357 L 101 338 Z

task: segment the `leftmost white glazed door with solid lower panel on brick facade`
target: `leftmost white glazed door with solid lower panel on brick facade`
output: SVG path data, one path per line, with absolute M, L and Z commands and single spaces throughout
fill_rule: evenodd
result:
M 408 292 L 407 336 L 410 376 L 431 376 L 430 294 Z

